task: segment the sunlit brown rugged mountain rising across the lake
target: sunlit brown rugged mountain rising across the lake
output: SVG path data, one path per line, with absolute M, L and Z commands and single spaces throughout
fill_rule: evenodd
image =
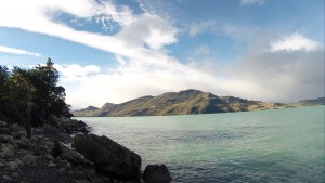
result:
M 165 116 L 249 112 L 295 107 L 282 103 L 249 101 L 234 96 L 217 96 L 198 90 L 168 92 L 158 96 L 142 96 L 121 104 L 106 103 L 101 108 L 87 107 L 73 112 L 76 117 L 86 116 Z

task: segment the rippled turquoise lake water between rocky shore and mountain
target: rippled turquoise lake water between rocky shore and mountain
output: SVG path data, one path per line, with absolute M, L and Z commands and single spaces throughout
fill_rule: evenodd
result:
M 324 106 L 86 121 L 173 182 L 325 182 Z

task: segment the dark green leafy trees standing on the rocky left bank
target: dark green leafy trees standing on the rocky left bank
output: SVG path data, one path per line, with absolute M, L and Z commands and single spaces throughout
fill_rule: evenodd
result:
M 65 89 L 57 86 L 58 71 L 51 58 L 31 69 L 0 65 L 0 119 L 20 121 L 31 136 L 31 126 L 41 126 L 51 116 L 72 117 Z

